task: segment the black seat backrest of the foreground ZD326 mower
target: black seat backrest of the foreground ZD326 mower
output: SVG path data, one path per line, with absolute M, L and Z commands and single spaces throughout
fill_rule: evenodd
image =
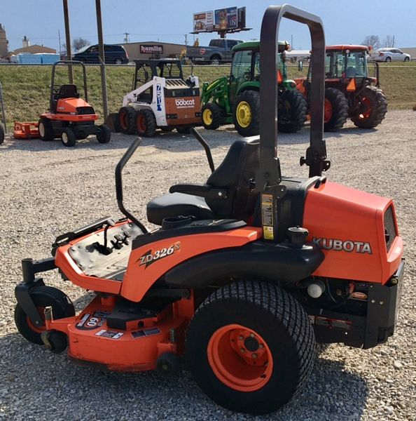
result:
M 227 199 L 205 199 L 216 217 L 247 220 L 253 215 L 258 193 L 254 192 L 251 180 L 259 166 L 259 146 L 258 138 L 236 140 L 221 165 L 209 176 L 207 185 L 228 191 Z

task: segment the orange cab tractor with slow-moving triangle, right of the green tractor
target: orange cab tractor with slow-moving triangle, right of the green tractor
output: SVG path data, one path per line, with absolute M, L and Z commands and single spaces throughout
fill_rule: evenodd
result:
M 360 128 L 375 128 L 387 112 L 387 100 L 380 89 L 377 62 L 375 77 L 369 76 L 366 46 L 326 46 L 324 130 L 338 131 L 347 118 Z M 312 67 L 307 78 L 296 79 L 297 87 L 310 107 Z

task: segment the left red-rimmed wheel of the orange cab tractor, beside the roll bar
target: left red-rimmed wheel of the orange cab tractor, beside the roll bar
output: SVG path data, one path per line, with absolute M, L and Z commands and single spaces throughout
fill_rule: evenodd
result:
M 338 131 L 347 121 L 349 105 L 345 95 L 336 88 L 325 89 L 324 131 Z

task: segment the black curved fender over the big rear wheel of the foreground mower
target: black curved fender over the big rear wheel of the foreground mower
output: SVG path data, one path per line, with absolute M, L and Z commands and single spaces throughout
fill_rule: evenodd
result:
M 310 276 L 323 261 L 324 253 L 314 243 L 299 248 L 289 241 L 256 241 L 186 260 L 170 269 L 165 281 L 181 288 L 206 288 L 216 281 L 233 278 L 296 283 Z

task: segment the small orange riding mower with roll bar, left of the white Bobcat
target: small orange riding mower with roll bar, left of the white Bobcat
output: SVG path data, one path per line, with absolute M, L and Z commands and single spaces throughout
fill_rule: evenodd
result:
M 80 65 L 83 69 L 84 100 L 80 98 L 76 85 L 55 85 L 55 72 L 58 65 Z M 94 108 L 88 104 L 87 74 L 85 65 L 76 60 L 58 61 L 52 67 L 50 81 L 50 106 L 48 112 L 39 119 L 39 137 L 41 140 L 62 139 L 64 146 L 74 146 L 76 140 L 96 135 L 99 143 L 108 143 L 111 132 L 107 126 L 95 125 L 98 119 Z

